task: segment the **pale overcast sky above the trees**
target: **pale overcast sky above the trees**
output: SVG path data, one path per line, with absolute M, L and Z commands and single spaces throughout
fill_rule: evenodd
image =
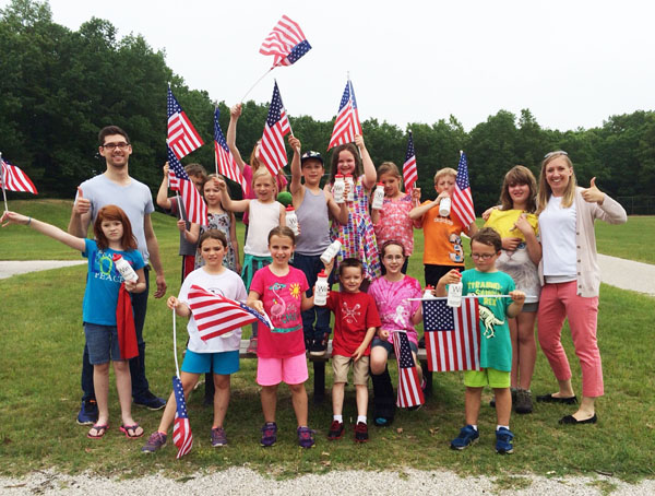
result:
M 267 102 L 276 78 L 290 116 L 332 118 L 348 71 L 362 120 L 402 128 L 452 114 L 468 130 L 499 109 L 529 108 L 541 127 L 567 130 L 655 108 L 648 1 L 50 0 L 50 8 L 72 29 L 97 16 L 121 37 L 143 35 L 189 87 L 228 105 L 271 67 L 259 47 L 286 14 L 313 48 L 248 98 Z

